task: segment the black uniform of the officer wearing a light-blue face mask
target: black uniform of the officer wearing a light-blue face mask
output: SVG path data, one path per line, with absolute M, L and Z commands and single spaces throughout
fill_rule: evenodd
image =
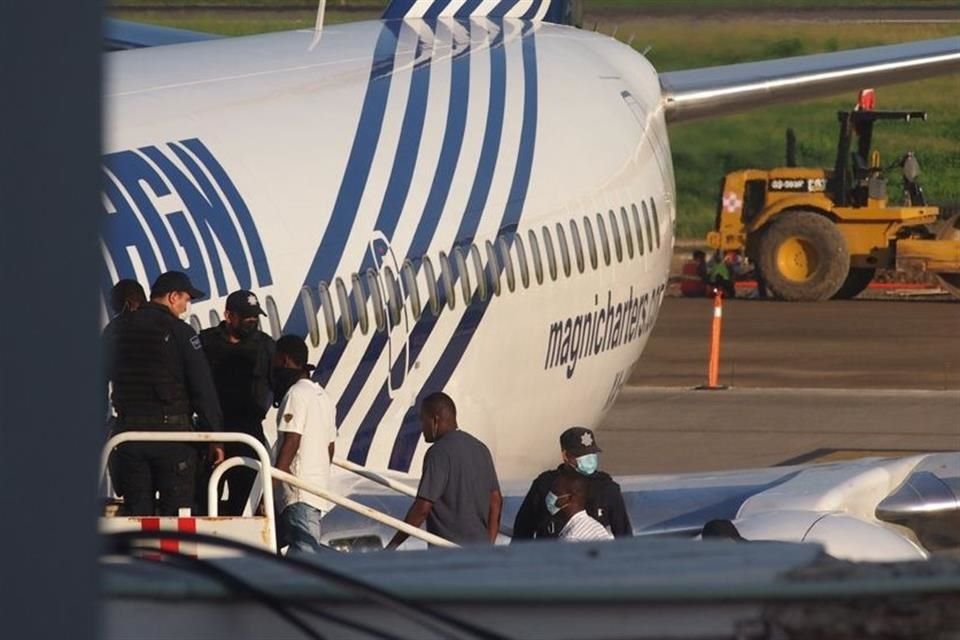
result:
M 530 540 L 533 538 L 556 538 L 563 529 L 560 514 L 551 516 L 547 511 L 546 497 L 553 486 L 557 475 L 561 473 L 578 473 L 567 464 L 561 464 L 556 469 L 544 471 L 530 485 L 530 491 L 523 499 L 520 510 L 513 523 L 514 540 Z M 589 476 L 589 495 L 587 496 L 587 513 L 610 531 L 617 538 L 633 535 L 630 517 L 623 503 L 623 494 L 620 485 L 614 482 L 603 471 L 595 471 Z

